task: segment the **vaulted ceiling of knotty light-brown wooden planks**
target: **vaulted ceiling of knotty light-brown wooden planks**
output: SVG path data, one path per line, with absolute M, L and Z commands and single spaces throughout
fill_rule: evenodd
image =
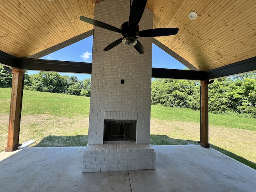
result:
M 0 50 L 28 57 L 88 32 L 93 26 L 79 16 L 94 18 L 100 1 L 1 0 Z M 146 6 L 154 12 L 153 28 L 179 28 L 156 40 L 198 70 L 256 56 L 255 0 L 148 0 Z M 195 20 L 188 18 L 192 11 Z

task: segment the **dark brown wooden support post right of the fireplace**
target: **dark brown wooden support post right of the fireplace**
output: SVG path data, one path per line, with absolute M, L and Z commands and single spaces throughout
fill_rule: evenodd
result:
M 208 118 L 208 80 L 201 81 L 201 120 L 200 120 L 200 144 L 204 148 L 209 148 L 209 118 Z

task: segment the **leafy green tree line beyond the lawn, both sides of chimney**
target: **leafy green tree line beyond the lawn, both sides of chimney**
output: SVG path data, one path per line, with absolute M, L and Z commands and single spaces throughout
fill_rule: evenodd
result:
M 0 87 L 12 86 L 12 73 L 0 66 Z M 24 75 L 24 89 L 90 97 L 91 80 L 62 76 L 56 72 Z M 220 78 L 209 84 L 209 111 L 236 113 L 256 117 L 256 72 Z M 200 109 L 200 82 L 155 79 L 151 87 L 151 104 Z

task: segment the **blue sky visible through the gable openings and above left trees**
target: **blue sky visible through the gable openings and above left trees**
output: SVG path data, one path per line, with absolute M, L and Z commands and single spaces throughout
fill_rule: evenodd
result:
M 76 62 L 92 62 L 92 38 L 90 36 L 84 40 L 76 42 L 70 46 L 62 48 L 56 52 L 42 57 L 41 59 L 76 61 Z M 172 56 L 158 48 L 153 44 L 152 47 L 152 67 L 168 68 L 168 69 L 184 69 L 186 66 L 178 62 Z M 38 73 L 38 71 L 28 71 L 28 74 Z M 79 80 L 91 78 L 90 74 L 72 74 L 60 73 L 61 75 L 77 76 Z

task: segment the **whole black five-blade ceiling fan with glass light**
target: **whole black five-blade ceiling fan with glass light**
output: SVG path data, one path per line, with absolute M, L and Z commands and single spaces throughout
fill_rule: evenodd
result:
M 143 54 L 145 52 L 144 47 L 142 44 L 138 41 L 138 37 L 160 37 L 160 36 L 169 36 L 169 35 L 176 35 L 178 33 L 178 28 L 155 28 L 155 29 L 148 29 L 140 31 L 139 29 L 139 22 L 142 18 L 144 9 L 146 7 L 147 0 L 133 0 L 131 4 L 130 0 L 130 16 L 129 21 L 124 22 L 120 29 L 100 22 L 98 20 L 94 20 L 91 18 L 87 18 L 84 16 L 80 16 L 80 20 L 93 24 L 95 26 L 98 26 L 100 28 L 108 29 L 110 31 L 118 32 L 122 34 L 122 38 L 112 42 L 106 48 L 104 48 L 104 51 L 108 51 L 121 42 L 123 42 L 126 45 L 134 46 L 134 48 L 140 53 Z

